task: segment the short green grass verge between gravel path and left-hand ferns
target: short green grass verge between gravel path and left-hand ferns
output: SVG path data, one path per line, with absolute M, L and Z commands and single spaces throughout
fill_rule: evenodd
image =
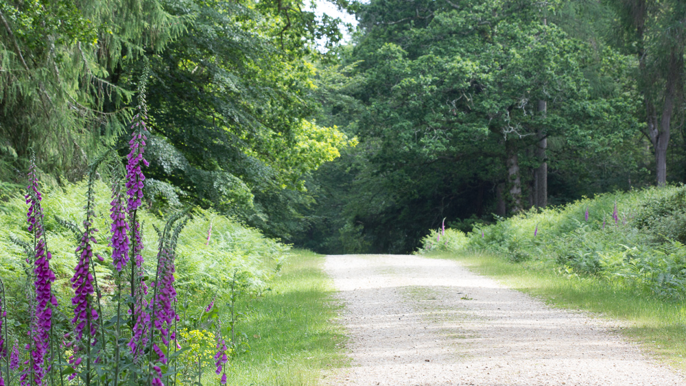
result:
M 295 250 L 264 298 L 237 305 L 236 330 L 250 350 L 230 361 L 228 385 L 314 386 L 322 370 L 344 367 L 341 304 L 322 272 L 323 256 Z

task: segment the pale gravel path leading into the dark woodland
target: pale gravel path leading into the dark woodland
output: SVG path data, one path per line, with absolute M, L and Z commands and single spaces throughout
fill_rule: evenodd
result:
M 353 367 L 329 385 L 686 385 L 610 322 L 551 309 L 454 261 L 327 256 Z

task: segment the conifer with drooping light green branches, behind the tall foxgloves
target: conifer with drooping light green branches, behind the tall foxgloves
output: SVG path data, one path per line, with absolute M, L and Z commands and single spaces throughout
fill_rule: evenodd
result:
M 25 169 L 29 149 L 46 173 L 82 178 L 130 118 L 118 69 L 182 29 L 157 0 L 3 1 L 0 24 L 3 180 Z

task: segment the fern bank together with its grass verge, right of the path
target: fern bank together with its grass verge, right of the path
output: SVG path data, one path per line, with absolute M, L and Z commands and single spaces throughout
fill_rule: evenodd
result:
M 471 232 L 432 230 L 418 251 L 568 309 L 618 319 L 622 332 L 685 367 L 686 187 L 606 193 L 532 209 Z

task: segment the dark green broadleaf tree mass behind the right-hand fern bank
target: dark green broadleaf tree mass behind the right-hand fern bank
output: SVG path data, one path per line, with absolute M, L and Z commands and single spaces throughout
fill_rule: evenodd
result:
M 530 208 L 542 137 L 554 204 L 652 179 L 637 61 L 609 43 L 607 5 L 376 0 L 358 14 L 317 93 L 318 119 L 360 143 L 314 173 L 318 204 L 298 245 L 404 253 L 444 217 Z

